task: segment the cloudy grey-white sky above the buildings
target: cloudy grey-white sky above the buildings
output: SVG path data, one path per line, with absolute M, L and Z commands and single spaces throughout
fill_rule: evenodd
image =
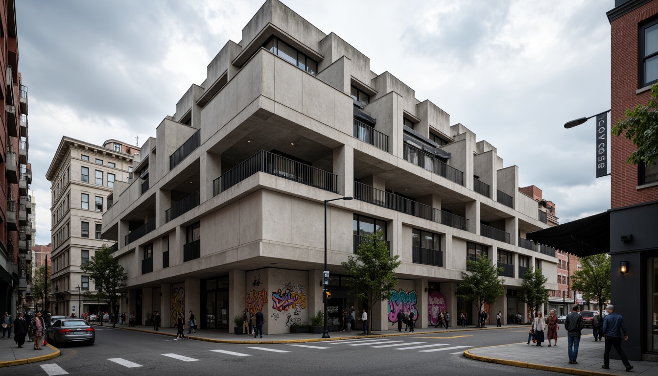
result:
M 594 121 L 610 108 L 613 0 L 284 0 L 498 149 L 566 223 L 610 207 L 595 178 Z M 139 144 L 262 0 L 16 1 L 29 88 L 37 243 L 50 242 L 45 173 L 63 135 Z

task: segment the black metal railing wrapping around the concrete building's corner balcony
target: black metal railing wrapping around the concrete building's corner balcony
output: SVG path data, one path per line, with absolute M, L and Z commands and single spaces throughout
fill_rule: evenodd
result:
M 279 176 L 329 192 L 337 192 L 338 188 L 338 175 L 261 150 L 216 178 L 213 181 L 213 196 L 255 173 Z

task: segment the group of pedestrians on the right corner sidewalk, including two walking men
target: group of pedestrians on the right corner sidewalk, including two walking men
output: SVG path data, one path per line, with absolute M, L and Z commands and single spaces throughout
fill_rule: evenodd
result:
M 626 354 L 621 348 L 622 338 L 628 340 L 624 318 L 618 313 L 615 313 L 615 307 L 612 304 L 608 304 L 605 310 L 607 311 L 607 316 L 601 318 L 599 315 L 594 315 L 592 319 L 594 340 L 599 341 L 602 337 L 605 338 L 605 350 L 603 350 L 603 365 L 601 365 L 601 368 L 610 369 L 610 352 L 612 348 L 615 348 L 624 367 L 626 367 L 626 371 L 630 371 L 633 369 L 633 366 L 628 362 L 628 358 L 626 358 Z M 580 313 L 578 313 L 578 305 L 572 306 L 571 312 L 565 319 L 569 364 L 578 364 L 578 346 L 584 327 L 585 321 Z M 553 310 L 551 310 L 551 314 L 546 320 L 542 317 L 542 312 L 538 311 L 536 313 L 536 317 L 532 321 L 530 333 L 528 334 L 528 344 L 534 338 L 534 341 L 536 341 L 535 346 L 544 346 L 542 343 L 544 342 L 544 331 L 546 329 L 548 331 L 548 346 L 551 346 L 551 339 L 554 340 L 553 346 L 557 346 L 557 330 L 559 329 L 559 324 Z

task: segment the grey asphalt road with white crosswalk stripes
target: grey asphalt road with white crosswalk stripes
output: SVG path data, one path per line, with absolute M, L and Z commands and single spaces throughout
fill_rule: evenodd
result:
M 526 340 L 527 330 L 409 335 L 301 344 L 220 344 L 103 328 L 92 346 L 60 346 L 50 361 L 7 375 L 558 375 L 468 360 L 468 348 Z M 567 357 L 566 338 L 559 351 Z M 538 348 L 538 352 L 556 348 Z M 531 361 L 531 360 L 530 360 Z

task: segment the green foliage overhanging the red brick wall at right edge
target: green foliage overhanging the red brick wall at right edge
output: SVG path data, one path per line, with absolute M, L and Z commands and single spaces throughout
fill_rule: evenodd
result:
M 612 128 L 612 134 L 621 136 L 626 132 L 626 138 L 632 140 L 638 147 L 633 151 L 626 163 L 637 165 L 642 162 L 651 166 L 658 157 L 658 84 L 651 85 L 651 99 L 646 105 L 638 105 L 634 109 L 626 109 L 626 119 L 619 119 Z

